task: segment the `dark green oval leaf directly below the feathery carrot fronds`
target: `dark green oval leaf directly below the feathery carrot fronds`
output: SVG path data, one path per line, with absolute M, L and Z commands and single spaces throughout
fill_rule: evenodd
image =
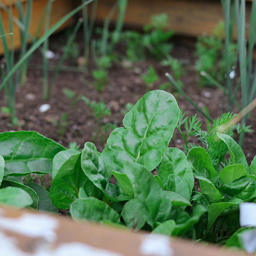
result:
M 218 173 L 214 169 L 212 161 L 206 150 L 202 147 L 193 147 L 188 152 L 188 161 L 193 166 L 194 176 L 207 178 L 214 185 L 218 182 Z

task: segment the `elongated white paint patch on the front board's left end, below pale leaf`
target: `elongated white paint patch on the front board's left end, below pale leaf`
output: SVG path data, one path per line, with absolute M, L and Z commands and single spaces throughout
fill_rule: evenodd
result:
M 25 213 L 18 218 L 0 216 L 0 229 L 8 230 L 33 238 L 44 238 L 46 241 L 55 241 L 57 219 L 48 215 Z

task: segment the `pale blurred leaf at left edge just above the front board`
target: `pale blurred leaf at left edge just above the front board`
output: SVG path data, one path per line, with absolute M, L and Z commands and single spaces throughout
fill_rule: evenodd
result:
M 5 189 L 0 189 L 0 203 L 24 208 L 30 206 L 33 203 L 33 200 L 29 193 L 23 189 L 7 187 Z

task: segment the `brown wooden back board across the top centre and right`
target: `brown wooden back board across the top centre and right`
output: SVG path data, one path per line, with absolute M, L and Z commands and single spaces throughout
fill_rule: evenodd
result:
M 99 0 L 97 20 L 103 21 L 115 0 Z M 247 3 L 249 20 L 250 1 Z M 137 27 L 150 23 L 150 16 L 166 13 L 169 17 L 168 29 L 181 36 L 197 37 L 202 33 L 212 34 L 213 29 L 224 14 L 220 0 L 129 0 L 126 9 L 125 24 Z M 117 15 L 113 17 L 113 21 Z

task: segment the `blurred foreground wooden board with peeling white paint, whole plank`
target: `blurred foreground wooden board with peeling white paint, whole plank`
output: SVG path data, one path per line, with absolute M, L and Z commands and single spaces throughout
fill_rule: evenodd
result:
M 30 224 L 33 225 L 32 228 Z M 51 252 L 49 255 L 55 255 L 52 251 L 57 251 L 63 245 L 69 245 L 69 249 L 72 246 L 73 249 L 80 248 L 85 252 L 87 249 L 92 249 L 95 250 L 95 253 L 98 253 L 96 254 L 97 256 L 104 256 L 107 252 L 108 256 L 248 255 L 238 251 L 220 249 L 220 247 L 202 245 L 200 242 L 194 243 L 156 234 L 152 237 L 152 235 L 143 232 L 135 234 L 123 228 L 114 228 L 106 225 L 85 222 L 75 223 L 71 218 L 42 213 L 37 214 L 27 210 L 16 210 L 3 205 L 0 206 L 0 236 L 2 252 L 5 247 L 9 246 L 5 243 L 10 243 L 11 241 L 13 242 L 13 247 L 17 251 L 21 251 L 22 255 L 26 252 L 35 256 L 37 255 L 35 251 L 40 250 L 44 250 L 44 252 L 49 250 Z M 161 254 L 159 252 L 156 254 L 156 249 L 161 250 Z M 101 254 L 99 254 L 99 250 Z M 153 253 L 154 251 L 155 253 Z M 84 253 L 84 255 L 94 256 L 95 253 Z M 11 250 L 7 254 L 19 256 L 17 252 L 14 254 Z M 82 253 L 80 252 L 79 255 L 82 255 Z

